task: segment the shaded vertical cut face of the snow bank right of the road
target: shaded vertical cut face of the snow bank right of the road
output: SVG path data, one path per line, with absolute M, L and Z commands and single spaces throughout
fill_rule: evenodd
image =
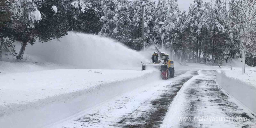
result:
M 239 79 L 228 77 L 224 71 L 217 72 L 217 83 L 227 93 L 256 113 L 256 87 Z

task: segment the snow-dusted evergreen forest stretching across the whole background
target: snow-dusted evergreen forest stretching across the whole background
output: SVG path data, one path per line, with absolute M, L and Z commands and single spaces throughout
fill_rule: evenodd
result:
M 234 3 L 231 1 L 226 4 L 232 6 Z M 1 0 L 1 49 L 16 56 L 13 43 L 14 40 L 20 41 L 22 49 L 17 58 L 21 59 L 27 44 L 59 39 L 67 31 L 78 31 L 114 38 L 139 51 L 143 48 L 143 2 L 150 1 Z M 244 2 L 251 6 L 250 0 Z M 159 0 L 157 4 L 144 6 L 146 47 L 159 47 L 163 31 L 163 47 L 172 51 L 173 59 L 221 64 L 222 61 L 239 58 L 244 46 L 248 55 L 246 63 L 253 65 L 248 59 L 255 60 L 256 19 L 246 20 L 245 17 L 254 13 L 237 15 L 242 8 L 226 8 L 223 0 L 216 0 L 213 4 L 194 0 L 188 12 L 179 10 L 177 0 Z M 245 20 L 241 20 L 243 18 Z M 164 19 L 162 27 L 160 19 Z M 241 41 L 249 42 L 242 46 Z

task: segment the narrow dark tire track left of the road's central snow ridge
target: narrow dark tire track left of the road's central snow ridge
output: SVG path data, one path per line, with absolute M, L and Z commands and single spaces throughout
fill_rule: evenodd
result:
M 145 107 L 147 109 L 136 109 L 136 111 L 120 120 L 117 126 L 125 128 L 160 127 L 174 97 L 182 88 L 183 84 L 195 75 L 198 75 L 197 71 L 193 71 L 189 77 L 166 85 L 165 90 L 158 91 L 158 98 L 149 100 L 141 105 L 147 106 Z

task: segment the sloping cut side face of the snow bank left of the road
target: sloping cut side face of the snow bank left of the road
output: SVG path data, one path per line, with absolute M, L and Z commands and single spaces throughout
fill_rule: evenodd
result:
M 145 86 L 159 78 L 159 72 L 151 72 L 141 77 L 106 84 L 93 88 L 48 97 L 28 104 L 0 106 L 1 128 L 41 128 L 49 127 L 63 119 L 72 118 L 118 95 Z

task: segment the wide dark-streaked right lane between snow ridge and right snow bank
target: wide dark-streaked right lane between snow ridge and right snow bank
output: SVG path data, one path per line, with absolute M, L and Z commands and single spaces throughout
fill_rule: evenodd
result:
M 247 114 L 241 107 L 230 100 L 216 84 L 216 74 L 211 70 L 202 70 L 203 76 L 198 77 L 184 91 L 186 95 L 183 117 L 191 120 L 180 121 L 182 128 L 196 127 L 243 127 L 255 128 L 255 118 Z M 228 118 L 218 122 L 206 118 Z M 244 121 L 236 121 L 235 118 L 247 118 Z M 200 121 L 199 119 L 202 118 Z M 208 118 L 208 119 L 209 119 Z M 232 120 L 230 120 L 232 118 Z M 194 120 L 198 119 L 198 120 Z

